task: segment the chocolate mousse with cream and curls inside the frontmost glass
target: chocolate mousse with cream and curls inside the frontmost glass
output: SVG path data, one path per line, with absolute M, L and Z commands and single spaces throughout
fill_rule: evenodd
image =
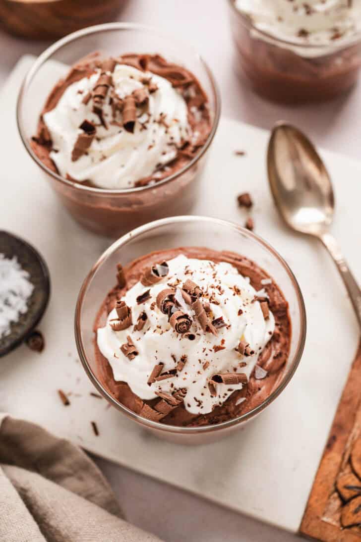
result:
M 248 412 L 283 377 L 288 303 L 256 263 L 181 247 L 117 269 L 94 322 L 97 376 L 136 414 L 168 425 L 217 424 Z

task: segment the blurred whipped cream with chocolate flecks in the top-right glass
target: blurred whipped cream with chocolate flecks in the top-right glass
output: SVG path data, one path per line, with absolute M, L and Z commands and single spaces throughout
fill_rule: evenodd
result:
M 361 0 L 235 0 L 255 27 L 294 43 L 338 44 L 361 29 Z

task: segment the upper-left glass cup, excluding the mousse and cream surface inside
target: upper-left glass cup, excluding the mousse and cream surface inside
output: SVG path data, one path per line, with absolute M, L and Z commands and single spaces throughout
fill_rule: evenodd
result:
M 123 53 L 160 53 L 186 66 L 208 95 L 212 128 L 206 143 L 182 169 L 153 185 L 107 190 L 85 186 L 57 175 L 35 155 L 30 146 L 46 98 L 69 67 L 93 51 L 103 57 Z M 198 178 L 208 147 L 216 133 L 220 95 L 211 70 L 201 57 L 172 36 L 133 23 L 109 23 L 79 30 L 50 46 L 27 74 L 17 102 L 17 124 L 23 144 L 40 167 L 69 213 L 85 228 L 118 237 L 136 226 L 165 216 L 184 214 L 197 198 Z M 149 172 L 151 174 L 152 172 Z

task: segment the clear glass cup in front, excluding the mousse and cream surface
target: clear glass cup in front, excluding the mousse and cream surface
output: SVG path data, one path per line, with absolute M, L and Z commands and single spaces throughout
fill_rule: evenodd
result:
M 261 404 L 245 414 L 216 425 L 178 427 L 146 420 L 119 403 L 99 377 L 94 350 L 94 322 L 105 296 L 115 285 L 117 263 L 126 265 L 153 250 L 182 246 L 230 250 L 246 255 L 275 280 L 289 303 L 292 337 L 286 367 L 280 372 L 275 389 Z M 94 264 L 80 289 L 75 309 L 75 340 L 81 363 L 92 383 L 107 401 L 157 437 L 181 444 L 203 444 L 231 434 L 264 410 L 280 395 L 300 362 L 306 338 L 306 313 L 302 294 L 292 271 L 277 252 L 237 224 L 217 218 L 178 216 L 145 224 L 113 243 Z

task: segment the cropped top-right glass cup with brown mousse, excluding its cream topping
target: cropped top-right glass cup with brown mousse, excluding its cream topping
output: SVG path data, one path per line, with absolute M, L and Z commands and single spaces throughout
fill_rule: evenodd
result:
M 331 44 L 295 44 L 258 30 L 227 0 L 236 69 L 254 91 L 283 104 L 322 102 L 349 90 L 361 66 L 361 36 Z

